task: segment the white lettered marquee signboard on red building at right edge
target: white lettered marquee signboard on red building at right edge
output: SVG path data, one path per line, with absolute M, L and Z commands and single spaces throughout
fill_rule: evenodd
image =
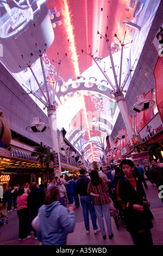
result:
M 160 114 L 157 113 L 155 117 L 149 121 L 149 123 L 143 127 L 139 132 L 142 142 L 148 141 L 148 139 L 155 136 L 157 133 L 163 130 L 163 123 Z

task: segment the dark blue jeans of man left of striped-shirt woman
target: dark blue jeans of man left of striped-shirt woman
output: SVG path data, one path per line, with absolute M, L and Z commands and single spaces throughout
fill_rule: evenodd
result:
M 90 230 L 89 211 L 91 215 L 93 229 L 97 229 L 97 217 L 95 212 L 95 206 L 92 204 L 92 196 L 80 196 L 80 204 L 83 209 L 83 217 L 86 230 Z

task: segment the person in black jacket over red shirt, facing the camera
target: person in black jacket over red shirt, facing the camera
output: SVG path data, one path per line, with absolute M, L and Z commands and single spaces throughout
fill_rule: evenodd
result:
M 133 176 L 133 161 L 125 159 L 121 162 L 121 167 L 124 176 L 118 181 L 116 192 L 118 202 L 123 208 L 127 231 L 135 245 L 153 245 L 150 231 L 153 227 L 150 202 L 146 199 L 142 181 Z

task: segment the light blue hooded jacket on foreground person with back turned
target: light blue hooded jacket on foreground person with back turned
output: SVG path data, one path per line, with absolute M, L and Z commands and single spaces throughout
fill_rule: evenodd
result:
M 41 237 L 43 245 L 66 245 L 67 234 L 75 227 L 74 211 L 56 201 L 39 208 Z

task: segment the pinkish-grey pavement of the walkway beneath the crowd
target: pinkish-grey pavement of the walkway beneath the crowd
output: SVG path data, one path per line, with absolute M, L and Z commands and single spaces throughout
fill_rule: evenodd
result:
M 158 190 L 156 187 L 152 187 L 151 183 L 147 181 L 148 188 L 145 189 L 147 199 L 151 202 L 151 211 L 154 215 L 153 225 L 151 229 L 154 245 L 163 245 L 163 203 L 158 197 Z M 34 236 L 31 235 L 29 240 L 18 241 L 18 216 L 17 211 L 12 206 L 12 212 L 8 214 L 9 223 L 0 227 L 0 245 L 39 245 L 38 240 L 34 240 Z M 3 210 L 7 214 L 7 206 Z M 106 240 L 103 240 L 101 233 L 95 235 L 93 233 L 92 224 L 90 221 L 90 234 L 86 235 L 83 210 L 82 206 L 76 209 L 76 227 L 73 233 L 67 236 L 67 246 L 73 245 L 85 245 L 85 246 L 108 246 L 108 245 L 133 245 L 130 234 L 123 228 L 123 220 L 119 221 L 119 227 L 115 225 L 113 217 L 111 217 L 112 231 L 114 237 L 109 240 L 107 236 Z M 106 230 L 106 225 L 105 225 Z

